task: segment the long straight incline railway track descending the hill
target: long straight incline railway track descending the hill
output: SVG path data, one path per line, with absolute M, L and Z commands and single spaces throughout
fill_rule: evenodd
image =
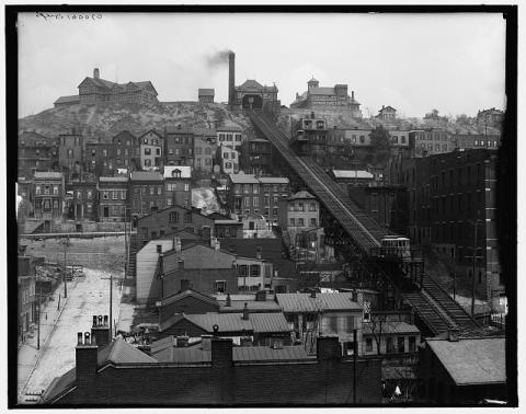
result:
M 305 182 L 365 255 L 381 245 L 387 235 L 376 221 L 367 216 L 345 191 L 338 185 L 315 161 L 298 157 L 289 147 L 287 136 L 263 113 L 248 111 L 252 123 L 274 145 L 281 156 Z M 378 271 L 385 272 L 378 267 Z M 389 275 L 387 275 L 389 277 Z M 421 290 L 404 291 L 402 298 L 427 325 L 433 334 L 449 329 L 473 329 L 477 322 L 428 275 L 422 281 Z

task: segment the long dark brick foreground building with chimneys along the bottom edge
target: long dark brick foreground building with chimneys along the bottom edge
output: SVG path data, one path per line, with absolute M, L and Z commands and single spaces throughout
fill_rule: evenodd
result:
M 381 401 L 380 361 L 358 358 L 354 388 L 353 359 L 341 357 L 333 337 L 319 337 L 313 356 L 302 346 L 235 347 L 232 340 L 216 336 L 205 336 L 196 346 L 187 346 L 184 338 L 164 338 L 151 344 L 147 355 L 123 338 L 101 345 L 96 335 L 107 334 L 107 329 L 95 329 L 78 333 L 76 366 L 52 381 L 44 403 L 261 406 Z

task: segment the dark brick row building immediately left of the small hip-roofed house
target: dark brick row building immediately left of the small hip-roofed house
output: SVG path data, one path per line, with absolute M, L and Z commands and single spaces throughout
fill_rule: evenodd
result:
M 284 176 L 260 176 L 260 203 L 259 214 L 265 220 L 277 225 L 279 218 L 279 202 L 290 196 L 290 185 Z M 258 214 L 254 209 L 254 214 Z

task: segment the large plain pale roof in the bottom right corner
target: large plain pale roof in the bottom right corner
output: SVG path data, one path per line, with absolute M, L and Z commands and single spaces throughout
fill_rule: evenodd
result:
M 504 337 L 426 341 L 457 386 L 503 383 L 506 381 Z

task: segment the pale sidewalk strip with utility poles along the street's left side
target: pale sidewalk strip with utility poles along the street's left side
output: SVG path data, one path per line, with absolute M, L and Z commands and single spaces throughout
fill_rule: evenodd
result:
M 67 288 L 68 294 L 76 287 L 78 279 L 68 281 Z M 58 301 L 60 297 L 60 309 L 58 309 Z M 18 354 L 18 393 L 19 401 L 23 401 L 25 386 L 31 377 L 31 373 L 35 369 L 41 359 L 42 355 L 46 350 L 48 340 L 50 338 L 55 327 L 57 326 L 60 315 L 62 314 L 65 308 L 68 306 L 70 296 L 64 298 L 64 283 L 61 283 L 55 294 L 53 295 L 54 300 L 48 300 L 47 304 L 41 304 L 41 348 L 37 349 L 38 342 L 38 329 L 35 326 L 33 334 L 31 336 L 26 334 L 24 343 L 19 346 Z M 42 390 L 28 390 L 30 392 L 39 392 Z

